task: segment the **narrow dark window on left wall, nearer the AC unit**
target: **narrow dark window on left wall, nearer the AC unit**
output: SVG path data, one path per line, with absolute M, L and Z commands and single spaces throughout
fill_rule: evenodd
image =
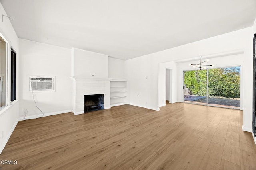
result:
M 16 99 L 16 53 L 11 49 L 11 102 Z

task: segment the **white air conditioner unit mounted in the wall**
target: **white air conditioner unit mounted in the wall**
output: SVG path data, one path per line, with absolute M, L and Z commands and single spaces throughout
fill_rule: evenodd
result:
M 29 90 L 30 91 L 45 91 L 53 89 L 54 78 L 48 77 L 30 77 L 29 78 Z

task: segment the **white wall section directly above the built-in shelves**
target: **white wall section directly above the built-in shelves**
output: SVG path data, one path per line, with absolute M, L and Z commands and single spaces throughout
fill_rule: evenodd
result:
M 124 60 L 108 57 L 108 78 L 125 79 Z

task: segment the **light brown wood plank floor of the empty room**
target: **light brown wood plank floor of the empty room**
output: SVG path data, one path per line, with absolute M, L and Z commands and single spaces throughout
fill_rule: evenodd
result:
M 0 155 L 14 169 L 256 170 L 243 112 L 185 103 L 123 105 L 20 121 Z

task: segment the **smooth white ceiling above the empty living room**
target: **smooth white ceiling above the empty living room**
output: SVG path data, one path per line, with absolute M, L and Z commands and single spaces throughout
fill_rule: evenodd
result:
M 0 0 L 19 38 L 131 59 L 250 27 L 256 0 Z

